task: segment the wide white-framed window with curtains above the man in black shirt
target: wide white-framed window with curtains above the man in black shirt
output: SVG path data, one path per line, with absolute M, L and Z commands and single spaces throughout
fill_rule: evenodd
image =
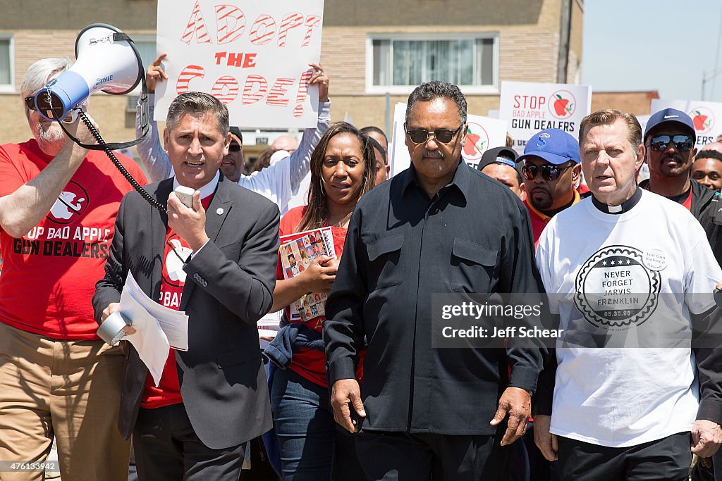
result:
M 369 92 L 407 93 L 430 80 L 497 92 L 495 35 L 374 35 L 367 46 Z

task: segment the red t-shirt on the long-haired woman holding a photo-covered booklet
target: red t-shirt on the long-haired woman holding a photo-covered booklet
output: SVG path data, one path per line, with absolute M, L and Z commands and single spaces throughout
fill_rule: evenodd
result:
M 292 208 L 286 213 L 281 219 L 280 235 L 284 236 L 287 234 L 293 234 L 297 232 L 298 223 L 303 217 L 306 206 L 300 206 Z M 346 240 L 346 231 L 342 227 L 331 226 L 331 234 L 334 235 L 334 252 L 336 257 L 340 258 L 344 250 L 344 242 Z M 276 272 L 276 279 L 283 280 L 282 264 L 279 260 L 278 269 Z M 290 318 L 290 309 L 286 308 L 286 316 Z M 318 332 L 323 332 L 323 321 L 326 320 L 324 316 L 313 317 L 313 319 L 306 319 L 303 321 L 305 325 Z M 363 372 L 363 355 L 365 351 L 362 351 L 359 355 L 359 363 L 356 369 L 357 379 L 361 379 Z M 319 386 L 328 386 L 326 380 L 326 355 L 318 350 L 311 350 L 302 348 L 301 350 L 293 353 L 291 365 L 289 369 L 294 371 L 299 376 L 303 376 L 311 382 L 318 384 Z

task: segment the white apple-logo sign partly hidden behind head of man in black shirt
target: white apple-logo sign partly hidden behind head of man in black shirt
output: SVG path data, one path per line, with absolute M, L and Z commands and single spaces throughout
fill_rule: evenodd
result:
M 461 149 L 461 156 L 471 167 L 477 167 L 485 151 L 492 147 L 505 145 L 507 122 L 506 120 L 482 117 L 482 115 L 469 114 L 466 117 L 466 141 Z M 392 177 L 411 165 L 409 149 L 404 144 L 406 141 L 405 120 L 406 104 L 398 103 L 393 110 L 393 144 L 389 151 Z M 454 137 L 453 141 L 456 141 L 456 138 Z

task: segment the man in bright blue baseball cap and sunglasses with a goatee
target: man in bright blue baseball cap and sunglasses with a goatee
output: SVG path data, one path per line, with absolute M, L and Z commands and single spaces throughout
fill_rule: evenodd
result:
M 565 131 L 547 128 L 529 139 L 516 162 L 524 162 L 524 205 L 529 210 L 536 245 L 554 214 L 580 200 L 574 188 L 581 172 L 579 144 Z

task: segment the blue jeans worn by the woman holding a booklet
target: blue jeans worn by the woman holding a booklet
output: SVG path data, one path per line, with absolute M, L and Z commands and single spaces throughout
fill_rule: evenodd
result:
M 354 436 L 336 425 L 326 387 L 279 369 L 271 407 L 284 481 L 365 480 Z

